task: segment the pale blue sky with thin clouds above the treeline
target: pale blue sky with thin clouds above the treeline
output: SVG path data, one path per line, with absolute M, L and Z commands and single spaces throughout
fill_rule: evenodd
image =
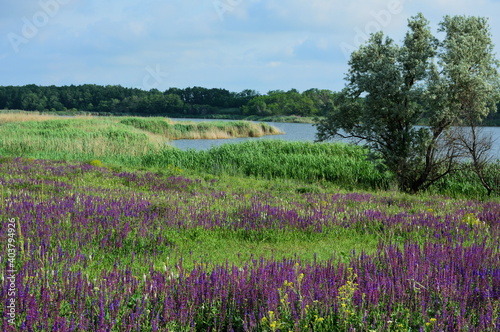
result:
M 351 51 L 419 12 L 438 37 L 487 17 L 500 56 L 500 0 L 2 0 L 0 85 L 339 91 Z

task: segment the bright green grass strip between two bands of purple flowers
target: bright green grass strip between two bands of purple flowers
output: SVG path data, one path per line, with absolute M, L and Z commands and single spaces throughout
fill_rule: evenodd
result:
M 168 246 L 150 246 L 146 238 L 129 238 L 120 249 L 97 249 L 98 246 L 82 248 L 82 252 L 96 259 L 82 271 L 90 276 L 99 276 L 109 271 L 115 262 L 128 266 L 134 275 L 147 273 L 151 264 L 161 270 L 165 266 L 175 269 L 179 262 L 187 270 L 199 264 L 217 266 L 235 264 L 243 266 L 252 259 L 293 259 L 300 257 L 304 262 L 326 261 L 335 255 L 347 262 L 352 252 L 374 254 L 379 239 L 373 234 L 359 234 L 354 231 L 338 229 L 323 235 L 295 233 L 292 231 L 236 232 L 210 231 L 203 228 L 170 230 L 162 232 Z M 68 246 L 66 245 L 66 248 Z M 131 253 L 134 260 L 131 260 Z M 151 259 L 154 255 L 154 259 Z M 135 262 L 135 263 L 134 263 Z M 148 262 L 146 264 L 145 262 Z

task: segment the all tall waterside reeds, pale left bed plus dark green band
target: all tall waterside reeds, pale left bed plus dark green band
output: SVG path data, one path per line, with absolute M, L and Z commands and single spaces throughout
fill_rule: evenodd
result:
M 0 116 L 1 119 L 1 116 Z M 130 167 L 190 169 L 266 179 L 329 181 L 345 188 L 386 188 L 386 174 L 365 158 L 366 150 L 330 143 L 249 141 L 208 151 L 181 151 L 165 137 L 260 136 L 273 127 L 245 121 L 174 123 L 162 118 L 44 118 L 0 120 L 5 156 L 103 162 Z

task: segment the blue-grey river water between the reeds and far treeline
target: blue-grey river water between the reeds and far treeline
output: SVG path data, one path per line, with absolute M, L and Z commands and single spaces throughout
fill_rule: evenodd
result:
M 207 120 L 207 119 L 172 119 L 175 121 L 230 121 L 230 120 Z M 263 137 L 248 137 L 248 138 L 230 138 L 230 139 L 181 139 L 170 141 L 172 146 L 175 146 L 181 150 L 196 149 L 196 150 L 208 150 L 213 146 L 222 145 L 225 143 L 239 143 L 248 140 L 259 140 L 259 139 L 281 139 L 285 141 L 309 141 L 315 140 L 316 126 L 309 123 L 282 123 L 282 122 L 266 122 L 269 125 L 279 128 L 281 131 L 285 132 L 284 135 L 271 135 Z M 484 131 L 486 133 L 491 133 L 494 143 L 492 154 L 496 158 L 500 158 L 500 127 L 485 127 Z M 345 141 L 338 139 L 338 141 Z

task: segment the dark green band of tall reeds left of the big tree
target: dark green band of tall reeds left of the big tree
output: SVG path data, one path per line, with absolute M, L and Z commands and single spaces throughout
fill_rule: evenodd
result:
M 162 150 L 146 156 L 142 164 L 267 179 L 329 181 L 349 188 L 388 187 L 387 174 L 379 172 L 365 155 L 364 148 L 346 144 L 259 140 L 208 151 Z

